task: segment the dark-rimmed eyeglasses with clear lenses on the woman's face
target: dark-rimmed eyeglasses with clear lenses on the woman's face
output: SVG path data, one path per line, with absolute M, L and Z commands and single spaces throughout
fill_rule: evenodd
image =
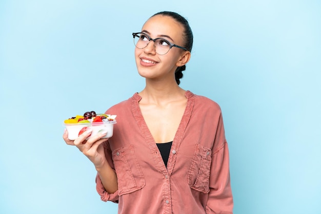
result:
M 160 55 L 167 54 L 169 52 L 169 49 L 171 49 L 172 47 L 181 48 L 185 51 L 188 51 L 186 48 L 174 45 L 170 41 L 164 38 L 153 39 L 149 37 L 149 35 L 147 35 L 146 33 L 133 33 L 133 37 L 134 37 L 134 44 L 136 48 L 139 48 L 139 49 L 146 48 L 149 44 L 149 41 L 152 40 L 154 42 L 155 52 Z

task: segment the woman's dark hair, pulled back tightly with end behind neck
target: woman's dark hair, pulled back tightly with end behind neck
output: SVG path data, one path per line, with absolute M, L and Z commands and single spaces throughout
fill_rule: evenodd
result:
M 192 33 L 192 29 L 191 29 L 190 25 L 188 24 L 188 21 L 186 20 L 186 18 L 184 18 L 183 16 L 179 15 L 178 13 L 169 12 L 169 11 L 163 11 L 163 12 L 155 13 L 153 16 L 156 16 L 156 15 L 164 15 L 164 16 L 172 17 L 179 24 L 183 25 L 183 27 L 184 27 L 183 39 L 185 41 L 185 44 L 183 45 L 183 47 L 191 52 L 192 51 L 192 47 L 193 47 L 193 33 Z M 185 71 L 185 69 L 186 69 L 185 65 L 181 66 L 181 67 L 177 67 L 177 69 L 175 71 L 175 79 L 176 79 L 177 84 L 180 83 L 179 79 L 183 77 L 183 71 Z

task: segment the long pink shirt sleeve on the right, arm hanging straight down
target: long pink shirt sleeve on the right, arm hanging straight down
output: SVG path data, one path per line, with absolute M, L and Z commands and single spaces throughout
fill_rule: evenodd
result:
M 219 118 L 212 151 L 209 178 L 210 192 L 206 204 L 206 213 L 232 214 L 233 196 L 230 182 L 229 151 L 225 139 L 222 114 Z

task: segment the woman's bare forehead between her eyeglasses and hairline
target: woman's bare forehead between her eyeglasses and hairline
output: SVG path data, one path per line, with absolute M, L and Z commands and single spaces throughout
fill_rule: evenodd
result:
M 148 31 L 152 38 L 167 35 L 175 42 L 182 40 L 184 28 L 170 16 L 156 15 L 150 17 L 143 25 L 142 31 Z

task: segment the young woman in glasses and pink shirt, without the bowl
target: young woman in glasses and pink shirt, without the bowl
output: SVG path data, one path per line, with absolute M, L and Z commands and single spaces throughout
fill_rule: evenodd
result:
M 222 113 L 214 101 L 178 86 L 193 35 L 174 12 L 150 17 L 133 33 L 143 91 L 112 106 L 113 137 L 76 145 L 95 165 L 96 189 L 118 213 L 232 213 L 229 153 Z

